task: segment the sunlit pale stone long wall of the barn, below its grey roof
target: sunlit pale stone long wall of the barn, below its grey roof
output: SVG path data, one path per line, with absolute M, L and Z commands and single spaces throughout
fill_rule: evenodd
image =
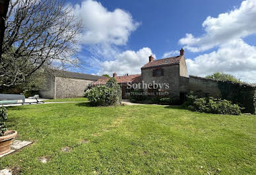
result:
M 84 97 L 84 91 L 93 81 L 56 77 L 55 98 Z

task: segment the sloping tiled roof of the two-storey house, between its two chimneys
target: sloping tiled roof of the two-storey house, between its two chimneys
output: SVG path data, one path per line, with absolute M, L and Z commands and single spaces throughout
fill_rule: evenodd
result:
M 176 57 L 170 57 L 170 58 L 166 58 L 166 59 L 155 60 L 155 61 L 148 62 L 148 63 L 144 64 L 144 66 L 142 68 L 149 68 L 149 67 L 154 67 L 154 66 L 165 66 L 165 65 L 169 65 L 169 64 L 176 64 L 176 63 L 179 63 L 181 61 L 182 57 L 183 56 L 176 56 Z

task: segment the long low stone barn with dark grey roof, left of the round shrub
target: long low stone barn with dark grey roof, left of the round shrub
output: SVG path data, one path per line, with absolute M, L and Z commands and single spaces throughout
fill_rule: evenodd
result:
M 40 90 L 40 97 L 47 99 L 61 99 L 84 97 L 84 91 L 103 76 L 80 74 L 77 72 L 55 72 L 49 74 L 46 80 L 46 88 Z

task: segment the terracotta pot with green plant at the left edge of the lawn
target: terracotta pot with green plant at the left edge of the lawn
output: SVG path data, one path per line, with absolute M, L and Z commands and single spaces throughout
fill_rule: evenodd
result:
M 17 132 L 7 130 L 5 122 L 7 121 L 7 109 L 0 107 L 0 155 L 7 153 L 11 149 L 11 144 L 17 136 Z

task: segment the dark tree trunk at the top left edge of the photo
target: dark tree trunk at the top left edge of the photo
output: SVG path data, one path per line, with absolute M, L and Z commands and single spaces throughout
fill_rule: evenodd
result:
M 10 0 L 0 0 L 0 59 L 3 53 L 3 38 L 5 36 L 5 18 Z

